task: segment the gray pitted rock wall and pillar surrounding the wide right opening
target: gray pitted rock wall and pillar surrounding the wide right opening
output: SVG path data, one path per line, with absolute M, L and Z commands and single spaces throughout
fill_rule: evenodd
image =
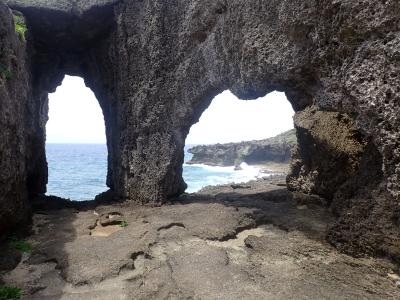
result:
M 128 156 L 122 154 L 130 170 L 122 177 L 133 180 L 127 186 L 164 185 L 167 190 L 154 190 L 153 199 L 176 194 L 185 134 L 212 97 L 227 88 L 241 98 L 277 89 L 297 110 L 315 104 L 351 115 L 384 156 L 387 187 L 397 197 L 397 152 L 383 150 L 393 150 L 398 141 L 398 104 L 390 92 L 398 78 L 387 74 L 389 66 L 396 68 L 396 11 L 395 1 L 144 1 L 117 6 L 118 38 L 130 41 L 122 48 L 112 46 L 123 66 L 117 90 L 130 99 L 123 111 L 138 120 L 122 133 L 133 143 L 133 150 L 124 152 Z M 122 85 L 128 82 L 126 89 Z M 387 94 L 393 94 L 393 101 L 385 100 Z M 127 174 L 134 170 L 141 174 L 137 179 Z M 127 195 L 149 195 L 140 195 L 141 190 Z

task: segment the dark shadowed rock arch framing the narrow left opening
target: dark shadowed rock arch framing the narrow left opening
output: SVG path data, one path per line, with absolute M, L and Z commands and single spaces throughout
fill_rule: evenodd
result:
M 52 93 L 61 84 L 64 75 L 80 76 L 92 89 L 102 108 L 106 128 L 110 123 L 108 95 L 105 94 L 101 78 L 97 74 L 106 74 L 106 67 L 96 64 L 90 51 L 96 43 L 102 41 L 111 30 L 112 9 L 101 7 L 90 9 L 90 13 L 70 10 L 71 3 L 47 6 L 40 2 L 32 7 L 22 3 L 22 11 L 29 28 L 27 35 L 28 55 L 32 77 L 31 129 L 27 137 L 27 185 L 31 196 L 46 192 L 47 163 L 45 156 L 45 125 L 48 118 L 48 93 Z M 84 29 L 85 28 L 85 29 Z M 83 30 L 82 30 L 83 29 Z M 109 133 L 108 136 L 112 136 Z M 107 139 L 108 148 L 112 139 Z M 109 151 L 110 152 L 110 151 Z M 109 155 L 109 158 L 112 155 Z M 112 166 L 112 163 L 109 163 Z M 109 172 L 110 173 L 110 172 Z M 112 185 L 112 183 L 111 183 Z

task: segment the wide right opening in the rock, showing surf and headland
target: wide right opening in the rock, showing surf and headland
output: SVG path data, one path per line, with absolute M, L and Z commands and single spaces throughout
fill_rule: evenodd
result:
M 186 192 L 286 175 L 297 143 L 293 116 L 282 92 L 249 101 L 229 90 L 216 96 L 186 138 Z

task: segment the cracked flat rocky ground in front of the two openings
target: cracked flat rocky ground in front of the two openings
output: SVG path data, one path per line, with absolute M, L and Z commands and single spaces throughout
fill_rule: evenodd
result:
M 397 267 L 337 252 L 324 201 L 281 178 L 162 207 L 58 206 L 37 203 L 32 252 L 2 272 L 24 299 L 400 298 Z

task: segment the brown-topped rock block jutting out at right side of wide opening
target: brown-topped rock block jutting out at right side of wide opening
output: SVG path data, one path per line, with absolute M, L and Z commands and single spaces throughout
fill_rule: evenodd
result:
M 301 142 L 293 153 L 289 188 L 332 198 L 359 169 L 367 142 L 346 114 L 309 107 L 294 123 Z

